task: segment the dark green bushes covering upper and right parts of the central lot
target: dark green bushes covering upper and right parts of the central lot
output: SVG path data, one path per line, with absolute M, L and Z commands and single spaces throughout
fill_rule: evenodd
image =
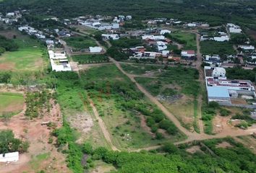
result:
M 116 126 L 114 132 L 119 133 L 121 128 L 127 127 L 124 133 L 137 136 L 138 134 L 135 131 L 130 131 L 131 125 L 133 125 L 131 121 L 137 124 L 138 120 L 140 121 L 140 115 L 143 115 L 146 118 L 147 125 L 151 128 L 151 132 L 155 133 L 155 135 L 158 133 L 158 128 L 166 130 L 171 136 L 180 135 L 179 130 L 166 119 L 163 112 L 155 105 L 151 105 L 146 101 L 144 95 L 125 76 L 120 74 L 116 67 L 109 65 L 101 66 L 100 68 L 90 68 L 89 71 L 81 74 L 81 77 L 88 95 L 95 102 L 99 114 L 103 118 L 105 116 L 114 118 L 115 115 L 113 113 L 125 115 L 126 118 L 124 119 L 127 119 L 127 122 L 124 125 Z M 109 103 L 106 105 L 103 100 Z M 117 110 L 109 110 L 110 103 Z M 140 126 L 140 124 L 138 125 Z M 124 133 L 121 133 L 120 136 L 124 137 Z M 148 137 L 144 136 L 143 138 Z M 157 139 L 161 138 L 163 137 L 158 134 Z

